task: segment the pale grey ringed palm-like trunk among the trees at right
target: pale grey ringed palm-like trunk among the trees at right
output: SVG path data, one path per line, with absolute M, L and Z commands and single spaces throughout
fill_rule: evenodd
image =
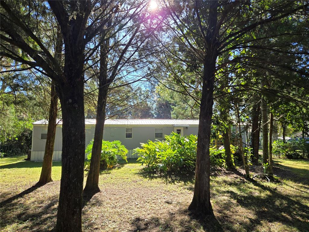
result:
M 262 165 L 268 163 L 268 106 L 265 97 L 262 97 L 262 135 L 263 135 L 263 160 Z

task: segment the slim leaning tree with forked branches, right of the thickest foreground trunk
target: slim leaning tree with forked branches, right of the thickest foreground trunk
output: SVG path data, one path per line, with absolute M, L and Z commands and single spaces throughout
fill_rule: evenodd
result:
M 107 26 L 106 29 L 104 28 L 104 30 L 101 32 L 100 37 L 100 54 L 99 54 L 100 59 L 99 59 L 99 75 L 98 75 L 99 94 L 96 107 L 95 134 L 91 152 L 92 155 L 90 161 L 90 168 L 84 191 L 99 191 L 100 157 L 102 150 L 103 130 L 105 122 L 105 108 L 108 98 L 108 88 L 112 84 L 112 82 L 115 81 L 117 73 L 120 73 L 122 71 L 121 68 L 129 62 L 129 58 L 132 58 L 134 53 L 137 52 L 138 48 L 140 48 L 140 46 L 143 43 L 142 42 L 135 48 L 132 47 L 133 39 L 135 39 L 137 33 L 139 32 L 140 25 L 143 19 L 141 19 L 141 21 L 138 22 L 136 25 L 131 25 L 127 32 L 118 29 L 118 24 L 120 23 L 128 24 L 128 22 L 131 21 L 133 17 L 135 17 L 136 15 L 140 15 L 140 10 L 138 10 L 138 8 L 141 5 L 137 4 L 137 6 L 134 6 L 133 4 L 133 6 L 127 9 L 127 12 L 121 11 L 122 14 L 118 16 L 114 16 L 114 14 L 117 13 L 119 7 L 116 7 L 114 11 L 110 11 L 108 10 L 108 5 L 109 3 L 104 2 L 104 4 L 102 4 L 101 6 L 103 10 L 106 9 L 106 11 L 109 11 L 110 13 L 107 14 L 107 19 L 101 19 L 107 21 Z M 115 6 L 111 7 L 114 8 Z M 135 11 L 135 14 L 130 15 L 128 17 L 127 15 L 129 14 L 129 12 L 133 10 Z M 121 17 L 123 18 L 122 20 L 119 19 Z M 114 23 L 112 23 L 112 19 L 115 19 Z M 115 27 L 114 30 L 112 30 L 112 25 L 113 27 Z M 113 47 L 110 47 L 109 34 L 116 34 L 117 32 L 119 34 L 115 36 L 116 42 L 113 43 Z M 131 34 L 128 35 L 129 33 Z M 122 36 L 122 39 L 118 39 L 118 37 L 121 37 L 121 34 L 125 34 L 125 36 Z M 122 48 L 121 44 L 125 44 L 125 46 Z M 137 43 L 135 42 L 134 45 L 136 46 L 136 44 Z M 110 54 L 112 52 L 112 49 L 114 49 L 115 54 Z M 120 55 L 117 56 L 118 49 L 121 50 L 121 53 Z M 131 52 L 132 49 L 135 50 L 133 50 L 133 52 L 129 55 L 129 58 L 126 58 L 125 54 L 127 53 L 128 49 L 130 49 Z M 112 60 L 112 57 L 117 58 L 115 60 Z M 109 64 L 109 67 L 108 67 L 108 60 L 111 62 L 111 64 Z M 110 73 L 108 72 L 108 69 L 111 69 Z

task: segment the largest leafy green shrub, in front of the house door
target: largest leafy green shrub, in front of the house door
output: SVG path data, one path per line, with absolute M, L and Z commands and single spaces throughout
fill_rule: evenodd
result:
M 146 171 L 166 173 L 168 171 L 195 170 L 197 136 L 181 136 L 174 132 L 165 135 L 165 140 L 141 143 L 141 148 L 134 149 L 139 155 L 138 161 L 145 164 Z M 232 157 L 235 147 L 231 146 Z M 210 162 L 213 166 L 225 165 L 225 151 L 210 147 Z

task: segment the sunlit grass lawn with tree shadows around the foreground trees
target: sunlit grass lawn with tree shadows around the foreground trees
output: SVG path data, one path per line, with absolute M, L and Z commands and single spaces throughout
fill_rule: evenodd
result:
M 49 231 L 56 223 L 61 162 L 53 182 L 32 188 L 42 163 L 25 157 L 1 158 L 1 231 Z M 87 196 L 83 231 L 309 231 L 309 161 L 275 159 L 279 181 L 243 178 L 243 170 L 213 170 L 216 218 L 187 211 L 194 178 L 147 175 L 129 161 L 100 175 L 101 192 Z M 252 167 L 252 173 L 261 172 Z M 86 180 L 86 179 L 85 179 Z

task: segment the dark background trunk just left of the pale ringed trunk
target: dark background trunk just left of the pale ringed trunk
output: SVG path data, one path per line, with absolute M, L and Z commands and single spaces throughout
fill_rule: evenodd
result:
M 252 109 L 252 148 L 253 161 L 258 164 L 259 161 L 259 143 L 260 143 L 260 102 L 253 106 Z

